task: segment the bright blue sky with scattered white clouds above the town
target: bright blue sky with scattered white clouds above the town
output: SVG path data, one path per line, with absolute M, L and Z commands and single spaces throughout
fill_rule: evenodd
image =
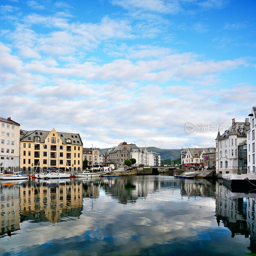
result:
M 256 105 L 255 39 L 253 0 L 1 0 L 0 116 L 84 147 L 211 147 Z

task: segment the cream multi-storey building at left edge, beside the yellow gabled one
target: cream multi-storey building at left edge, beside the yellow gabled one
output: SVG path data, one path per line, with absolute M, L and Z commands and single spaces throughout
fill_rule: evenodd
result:
M 0 125 L 0 173 L 3 173 L 4 170 L 18 172 L 20 162 L 20 124 L 11 120 L 11 117 L 0 117 Z

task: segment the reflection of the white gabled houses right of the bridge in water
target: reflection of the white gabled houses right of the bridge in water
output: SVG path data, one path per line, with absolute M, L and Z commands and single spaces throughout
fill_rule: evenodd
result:
M 181 196 L 205 196 L 215 198 L 215 184 L 208 180 L 182 180 Z

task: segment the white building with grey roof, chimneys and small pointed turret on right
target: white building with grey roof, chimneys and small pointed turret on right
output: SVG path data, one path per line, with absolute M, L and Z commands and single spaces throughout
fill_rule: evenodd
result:
M 236 122 L 222 135 L 218 132 L 216 142 L 216 174 L 238 173 L 238 145 L 246 141 L 246 133 L 250 129 L 249 119 Z

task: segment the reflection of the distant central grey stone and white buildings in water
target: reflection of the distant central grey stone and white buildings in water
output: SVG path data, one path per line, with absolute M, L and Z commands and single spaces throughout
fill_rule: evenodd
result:
M 122 204 L 127 204 L 155 192 L 160 188 L 160 181 L 150 181 L 148 178 L 137 181 L 132 177 L 125 177 L 124 179 L 103 179 L 100 185 L 107 194 L 117 198 Z

